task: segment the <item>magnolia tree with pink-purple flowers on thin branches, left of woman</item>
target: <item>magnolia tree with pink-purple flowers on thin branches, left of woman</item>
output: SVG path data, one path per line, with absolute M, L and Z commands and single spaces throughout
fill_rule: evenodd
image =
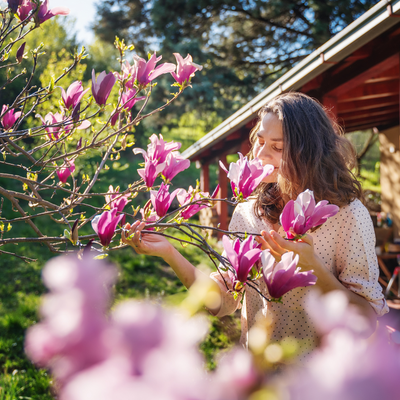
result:
M 53 77 L 47 87 L 37 88 L 31 82 L 42 45 L 28 56 L 24 38 L 55 15 L 68 13 L 64 7 L 50 9 L 47 0 L 8 1 L 8 8 L 2 11 L 0 56 L 4 65 L 1 67 L 8 68 L 3 89 L 7 90 L 16 79 L 25 79 L 26 83 L 15 99 L 3 105 L 0 115 L 0 150 L 3 156 L 0 164 L 10 171 L 0 173 L 3 182 L 10 182 L 10 185 L 0 187 L 0 252 L 29 261 L 23 254 L 9 251 L 10 246 L 7 251 L 1 247 L 32 242 L 46 245 L 53 253 L 77 252 L 82 256 L 90 252 L 102 258 L 108 251 L 126 246 L 120 240 L 123 226 L 125 222 L 140 218 L 147 223 L 145 233 L 164 235 L 202 249 L 220 271 L 226 289 L 235 296 L 249 287 L 265 297 L 255 284 L 261 276 L 266 280 L 272 297 L 277 299 L 294 287 L 314 284 L 312 272 L 302 273 L 296 268 L 298 258 L 287 256 L 275 264 L 268 254 L 263 255 L 254 235 L 246 232 L 222 231 L 226 235 L 223 239 L 225 253 L 218 254 L 207 242 L 207 235 L 201 232 L 204 229 L 221 230 L 190 221 L 201 209 L 213 206 L 216 201 L 233 205 L 246 201 L 259 183 L 273 172 L 271 165 L 263 166 L 258 159 L 248 160 L 239 154 L 239 160 L 229 169 L 221 164 L 231 181 L 232 199 L 217 199 L 218 187 L 211 195 L 202 192 L 198 185 L 171 191 L 173 179 L 189 167 L 190 161 L 179 154 L 180 143 L 166 142 L 161 135 L 153 134 L 147 149 L 133 149 L 134 154 L 143 157 L 143 168 L 137 170 L 136 178 L 116 188 L 110 186 L 107 193 L 96 190 L 99 174 L 108 168 L 107 161 L 118 159 L 121 152 L 133 146 L 131 131 L 134 127 L 173 103 L 191 86 L 192 78 L 202 70 L 202 66 L 195 64 L 190 55 L 183 58 L 178 53 L 174 53 L 176 64 L 160 63 L 162 57 L 157 57 L 155 52 L 149 54 L 148 60 L 134 55 L 131 64 L 124 57 L 133 46 L 125 45 L 117 38 L 115 46 L 120 54 L 120 71 L 93 70 L 89 87 L 85 88 L 80 81 L 63 87 L 63 78 L 84 59 L 82 50 L 75 54 L 74 62 L 62 75 Z M 10 61 L 14 53 L 16 59 Z M 28 57 L 33 61 L 32 70 L 29 73 L 22 70 L 12 76 L 12 67 Z M 172 87 L 176 90 L 165 104 L 149 110 L 149 99 L 156 90 L 157 78 L 165 74 L 171 75 Z M 113 91 L 118 91 L 116 104 L 110 100 Z M 58 112 L 40 115 L 36 109 L 49 101 L 50 96 L 53 100 L 54 96 L 58 97 Z M 102 124 L 96 128 L 99 121 Z M 85 154 L 94 151 L 101 152 L 102 158 L 93 175 L 85 173 L 84 168 L 83 176 L 78 175 L 76 165 L 84 160 Z M 160 177 L 162 183 L 156 184 Z M 135 202 L 140 192 L 149 194 L 147 203 Z M 104 199 L 103 205 L 94 206 L 91 201 L 94 198 Z M 175 198 L 179 207 L 171 209 Z M 4 207 L 7 202 L 8 207 Z M 290 202 L 290 209 L 285 209 L 282 214 L 288 238 L 299 239 L 308 229 L 334 215 L 337 207 L 325 203 L 315 206 L 312 192 Z M 60 234 L 54 236 L 39 228 L 44 225 L 40 220 L 52 221 L 51 232 L 56 225 Z M 12 227 L 21 223 L 31 227 L 31 236 L 13 237 Z M 183 234 L 183 238 L 182 235 L 176 237 L 173 230 Z M 82 231 L 86 234 L 80 234 Z M 266 258 L 268 262 L 264 263 L 263 271 L 261 259 Z M 291 284 L 283 285 L 289 276 Z

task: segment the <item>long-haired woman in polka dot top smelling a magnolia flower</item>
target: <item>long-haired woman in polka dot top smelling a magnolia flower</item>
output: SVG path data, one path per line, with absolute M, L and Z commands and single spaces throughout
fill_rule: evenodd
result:
M 315 287 L 298 288 L 283 297 L 283 304 L 267 303 L 254 290 L 247 289 L 243 306 L 235 300 L 219 273 L 211 278 L 218 284 L 222 304 L 210 310 L 223 316 L 242 307 L 241 343 L 247 345 L 248 332 L 260 316 L 267 318 L 270 338 L 294 337 L 306 347 L 316 341 L 305 310 L 304 299 L 310 290 L 323 293 L 344 292 L 350 303 L 375 326 L 377 315 L 388 311 L 378 284 L 379 268 L 375 255 L 375 236 L 371 218 L 363 206 L 360 184 L 351 173 L 355 153 L 350 142 L 340 135 L 321 105 L 300 93 L 287 93 L 273 99 L 260 111 L 260 120 L 250 140 L 252 155 L 263 165 L 271 164 L 274 172 L 256 190 L 256 197 L 239 204 L 229 229 L 261 233 L 259 242 L 279 260 L 293 251 L 299 254 L 303 271 L 314 270 Z M 307 234 L 301 242 L 285 240 L 279 215 L 287 201 L 296 199 L 306 189 L 314 192 L 316 201 L 328 200 L 340 207 L 336 216 Z M 123 241 L 140 254 L 164 258 L 186 287 L 195 280 L 196 268 L 165 238 L 143 234 L 145 224 L 135 222 L 134 236 Z M 261 292 L 267 293 L 262 279 Z

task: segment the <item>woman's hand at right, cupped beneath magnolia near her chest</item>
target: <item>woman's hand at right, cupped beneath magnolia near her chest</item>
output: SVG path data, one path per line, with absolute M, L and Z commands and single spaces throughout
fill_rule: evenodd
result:
M 311 235 L 304 235 L 298 242 L 285 240 L 274 230 L 262 231 L 261 235 L 257 236 L 257 242 L 261 243 L 263 250 L 269 249 L 275 260 L 280 261 L 282 254 L 293 251 L 299 255 L 298 265 L 302 271 L 315 270 L 322 266 L 318 256 L 314 253 L 314 242 Z

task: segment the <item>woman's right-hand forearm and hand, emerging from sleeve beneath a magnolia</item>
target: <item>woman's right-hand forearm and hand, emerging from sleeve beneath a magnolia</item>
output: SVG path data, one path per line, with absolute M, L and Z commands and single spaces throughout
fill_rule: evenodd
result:
M 263 249 L 269 249 L 277 260 L 287 251 L 293 251 L 298 254 L 299 267 L 303 271 L 314 271 L 314 275 L 318 278 L 316 286 L 323 293 L 333 290 L 344 292 L 349 302 L 358 306 L 360 313 L 368 318 L 371 323 L 371 328 L 375 330 L 377 316 L 369 302 L 364 297 L 347 289 L 327 268 L 325 268 L 321 259 L 314 252 L 313 238 L 311 235 L 305 235 L 300 242 L 291 242 L 282 238 L 275 231 L 262 231 L 261 234 L 263 237 L 259 238 L 258 242 L 262 244 Z

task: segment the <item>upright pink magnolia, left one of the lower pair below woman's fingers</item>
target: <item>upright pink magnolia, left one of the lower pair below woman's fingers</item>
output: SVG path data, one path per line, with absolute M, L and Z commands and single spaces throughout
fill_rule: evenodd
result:
M 233 243 L 228 236 L 224 235 L 222 244 L 226 257 L 235 270 L 235 274 L 231 270 L 228 271 L 233 287 L 235 288 L 239 282 L 245 284 L 251 268 L 261 257 L 262 251 L 257 248 L 258 243 L 251 235 L 243 242 L 236 239 Z

